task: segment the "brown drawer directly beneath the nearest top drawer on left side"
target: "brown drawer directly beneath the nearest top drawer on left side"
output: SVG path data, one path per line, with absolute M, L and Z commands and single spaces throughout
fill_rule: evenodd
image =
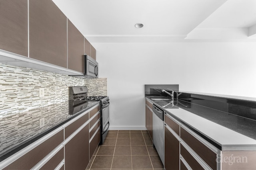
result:
M 64 148 L 58 151 L 40 170 L 53 170 L 64 159 Z

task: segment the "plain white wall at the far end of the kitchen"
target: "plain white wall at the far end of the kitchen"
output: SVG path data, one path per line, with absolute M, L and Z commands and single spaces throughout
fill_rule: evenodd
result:
M 145 129 L 144 84 L 256 97 L 256 43 L 95 43 L 110 129 Z

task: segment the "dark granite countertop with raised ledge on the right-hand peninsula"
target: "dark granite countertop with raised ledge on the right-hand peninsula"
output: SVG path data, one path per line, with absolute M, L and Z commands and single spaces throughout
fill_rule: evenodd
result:
M 220 150 L 256 150 L 255 101 L 182 93 L 167 106 L 170 101 L 146 98 L 158 107 L 166 106 L 162 109 Z

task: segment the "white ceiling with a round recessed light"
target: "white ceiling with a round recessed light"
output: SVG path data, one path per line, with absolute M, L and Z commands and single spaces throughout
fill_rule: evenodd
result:
M 52 1 L 91 43 L 256 41 L 256 0 Z

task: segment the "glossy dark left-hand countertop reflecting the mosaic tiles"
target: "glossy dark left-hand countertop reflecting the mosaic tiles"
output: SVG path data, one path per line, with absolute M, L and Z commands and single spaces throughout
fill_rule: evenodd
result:
M 97 104 L 98 101 L 86 102 L 81 111 L 70 114 L 69 101 L 65 101 L 1 117 L 5 119 L 5 124 L 1 125 L 0 162 Z M 13 116 L 20 117 L 20 120 L 12 121 Z M 42 128 L 39 127 L 40 117 L 44 117 L 45 120 Z

